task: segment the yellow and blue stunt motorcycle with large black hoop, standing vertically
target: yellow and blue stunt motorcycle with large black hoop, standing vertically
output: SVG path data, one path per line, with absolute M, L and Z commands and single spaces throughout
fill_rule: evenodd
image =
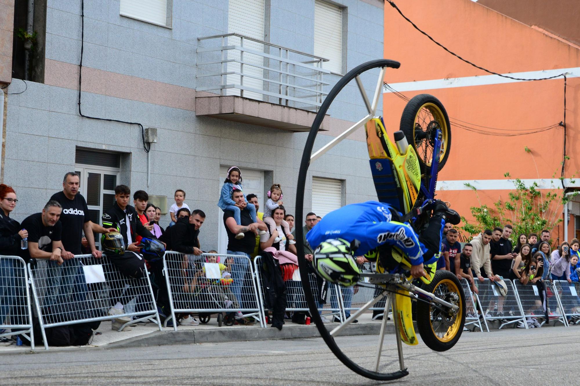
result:
M 408 221 L 417 234 L 426 227 L 431 217 L 429 207 L 435 195 L 437 173 L 445 165 L 451 148 L 449 118 L 443 104 L 436 97 L 420 94 L 408 101 L 401 116 L 400 130 L 394 133 L 394 142 L 390 140 L 383 120 L 380 116 L 376 116 L 376 111 L 382 95 L 385 72 L 387 68 L 398 68 L 399 65 L 397 61 L 385 59 L 361 64 L 340 79 L 329 92 L 306 140 L 297 184 L 296 224 L 302 224 L 303 220 L 304 190 L 310 163 L 355 130 L 364 128 L 367 134 L 369 166 L 378 201 L 388 203 L 401 212 L 402 222 Z M 376 85 L 374 94 L 369 96 L 364 83 L 367 82 L 368 85 L 368 79 L 376 77 L 376 72 L 379 75 L 378 81 L 373 82 Z M 351 128 L 313 152 L 322 119 L 336 96 L 351 82 L 356 83 L 356 87 L 360 90 L 368 114 L 365 113 L 365 116 Z M 310 285 L 309 278 L 313 270 L 304 258 L 304 246 L 300 242 L 303 240 L 302 227 L 296 228 L 296 239 L 300 275 L 312 319 L 331 351 L 354 372 L 374 380 L 393 380 L 406 376 L 408 370 L 404 365 L 403 343 L 418 344 L 413 319 L 416 320 L 416 327 L 423 343 L 435 351 L 448 350 L 459 340 L 465 324 L 466 305 L 465 294 L 458 278 L 449 271 L 436 271 L 437 262 L 435 262 L 425 267 L 425 277 L 420 278 L 420 281 L 414 281 L 408 271 L 411 269 L 408 256 L 396 247 L 391 248 L 391 256 L 388 256 L 391 262 L 394 261 L 394 268 L 392 264 L 384 267 L 385 258 L 380 258 L 376 254 L 365 256 L 371 261 L 372 270 L 361 272 L 358 287 L 359 292 L 360 288 L 370 289 L 373 293 L 369 296 L 371 299 L 361 305 L 349 318 L 341 317 L 338 326 L 327 329 L 327 325 L 322 322 L 319 315 L 318 294 L 316 298 L 313 294 L 318 290 Z M 338 292 L 335 296 L 339 302 L 343 302 L 344 296 L 340 294 L 345 290 L 338 289 Z M 416 303 L 416 307 L 413 307 L 412 303 Z M 344 304 L 341 304 L 344 307 Z M 344 337 L 340 334 L 348 329 L 354 320 L 368 314 L 370 309 L 377 309 L 378 304 L 382 309 L 383 319 L 375 352 L 369 354 L 352 348 L 351 341 L 347 339 L 341 344 L 340 338 Z M 382 356 L 390 355 L 388 350 L 383 348 L 389 319 L 387 315 L 390 310 L 397 337 L 399 370 L 395 372 L 387 371 L 388 363 L 381 363 L 380 360 Z

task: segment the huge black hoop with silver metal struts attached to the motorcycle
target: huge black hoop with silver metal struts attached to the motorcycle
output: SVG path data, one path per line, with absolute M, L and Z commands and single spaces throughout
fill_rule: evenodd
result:
M 329 149 L 334 147 L 340 141 L 348 137 L 351 133 L 353 133 L 358 128 L 361 128 L 369 121 L 369 119 L 374 118 L 376 115 L 376 110 L 379 104 L 379 98 L 383 91 L 383 80 L 385 77 L 385 71 L 387 67 L 391 68 L 398 68 L 399 63 L 393 60 L 386 60 L 386 59 L 379 59 L 379 60 L 372 60 L 367 63 L 363 63 L 358 65 L 357 67 L 353 68 L 353 70 L 349 71 L 348 74 L 345 75 L 339 82 L 333 86 L 332 90 L 329 92 L 328 96 L 322 103 L 320 110 L 318 111 L 316 118 L 314 118 L 314 122 L 312 124 L 312 128 L 310 129 L 309 136 L 306 140 L 304 152 L 302 154 L 302 162 L 300 163 L 300 170 L 298 174 L 298 184 L 296 185 L 296 223 L 302 224 L 303 221 L 303 210 L 304 210 L 304 192 L 305 192 L 305 185 L 306 185 L 306 176 L 311 162 L 314 162 L 317 158 L 322 156 L 325 152 Z M 367 72 L 365 74 L 365 72 Z M 378 72 L 378 77 L 376 77 L 376 73 Z M 371 95 L 367 95 L 367 92 L 363 86 L 363 81 L 374 77 L 375 83 L 374 93 Z M 335 100 L 336 96 L 340 93 L 340 90 L 345 88 L 347 84 L 350 82 L 355 83 L 358 86 L 358 90 L 360 91 L 362 100 L 364 101 L 364 105 L 367 107 L 368 114 L 362 116 L 360 121 L 355 123 L 349 129 L 345 130 L 342 134 L 335 137 L 329 143 L 322 146 L 316 152 L 313 151 L 314 141 L 316 140 L 316 136 L 318 134 L 318 129 L 320 129 L 320 125 L 322 123 L 322 119 L 324 119 L 325 114 L 328 111 L 329 106 L 332 104 L 333 100 Z M 409 141 L 409 143 L 412 143 Z M 404 377 L 408 374 L 407 369 L 403 368 L 403 363 L 401 363 L 400 370 L 396 372 L 386 372 L 383 369 L 386 367 L 394 366 L 393 363 L 396 363 L 396 360 L 393 360 L 392 356 L 397 356 L 396 348 L 392 348 L 389 352 L 389 358 L 383 358 L 383 362 L 380 363 L 381 356 L 385 356 L 385 350 L 383 350 L 383 338 L 386 332 L 384 323 L 387 322 L 387 315 L 384 316 L 383 325 L 381 326 L 378 345 L 375 349 L 365 348 L 365 351 L 361 351 L 361 349 L 357 349 L 356 347 L 349 347 L 343 351 L 339 344 L 337 344 L 337 337 L 342 331 L 342 327 L 346 328 L 351 319 L 354 316 L 351 315 L 351 318 L 347 319 L 345 322 L 340 324 L 341 329 L 336 331 L 331 335 L 331 332 L 327 330 L 327 325 L 322 323 L 322 319 L 318 314 L 318 299 L 315 299 L 313 296 L 313 292 L 310 287 L 309 276 L 311 274 L 311 270 L 309 268 L 309 263 L 304 258 L 304 246 L 302 245 L 303 240 L 303 231 L 302 227 L 296 227 L 296 246 L 298 247 L 298 261 L 300 267 L 300 276 L 302 278 L 302 287 L 304 289 L 304 293 L 306 296 L 307 303 L 310 308 L 310 315 L 314 322 L 316 322 L 316 326 L 318 328 L 318 332 L 324 339 L 325 343 L 331 349 L 333 354 L 336 355 L 342 363 L 344 363 L 349 369 L 353 370 L 357 374 L 361 376 L 371 378 L 374 380 L 386 381 L 386 380 L 394 380 L 397 378 Z M 372 291 L 371 291 L 372 293 Z M 373 297 L 374 295 L 371 295 Z M 374 298 L 374 301 L 383 298 L 384 293 L 380 294 L 379 296 Z M 328 295 L 328 298 L 331 297 L 331 294 Z M 386 300 L 386 297 L 384 298 Z M 381 304 L 384 307 L 384 304 Z M 370 307 L 370 306 L 369 306 Z M 388 312 L 388 307 L 386 308 L 386 312 Z M 369 317 L 370 318 L 370 317 Z M 393 322 L 391 322 L 393 323 Z M 332 327 L 337 327 L 337 325 L 330 325 Z M 340 338 L 339 338 L 340 340 Z

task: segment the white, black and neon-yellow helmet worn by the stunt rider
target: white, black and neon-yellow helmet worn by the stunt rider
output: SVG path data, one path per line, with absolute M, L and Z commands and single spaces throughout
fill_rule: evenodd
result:
M 314 250 L 312 264 L 317 274 L 330 283 L 350 287 L 360 279 L 353 248 L 344 239 L 328 239 L 320 243 Z

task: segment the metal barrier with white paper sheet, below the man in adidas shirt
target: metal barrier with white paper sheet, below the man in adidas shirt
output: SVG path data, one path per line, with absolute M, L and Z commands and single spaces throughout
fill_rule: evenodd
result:
M 28 263 L 32 294 L 42 331 L 44 347 L 48 349 L 45 329 L 77 323 L 105 321 L 122 316 L 139 318 L 126 325 L 149 319 L 161 330 L 157 305 L 151 288 L 149 272 L 140 279 L 119 272 L 115 264 L 103 254 L 77 255 L 62 265 L 55 261 L 38 260 Z M 129 305 L 120 315 L 109 315 L 117 302 Z M 129 310 L 128 308 L 133 308 Z

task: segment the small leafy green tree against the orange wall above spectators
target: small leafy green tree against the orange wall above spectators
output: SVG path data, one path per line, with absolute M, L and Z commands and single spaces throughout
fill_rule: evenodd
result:
M 509 172 L 503 176 L 511 177 Z M 530 186 L 526 186 L 520 179 L 514 179 L 512 182 L 515 190 L 509 192 L 507 201 L 502 202 L 499 199 L 494 202 L 493 207 L 482 204 L 476 187 L 465 184 L 475 192 L 479 205 L 470 207 L 475 219 L 473 223 L 461 217 L 465 224 L 461 229 L 474 235 L 485 229 L 503 227 L 509 223 L 513 226 L 512 241 L 517 242 L 517 236 L 520 234 L 539 234 L 544 229 L 552 230 L 560 224 L 562 219 L 559 218 L 559 214 L 562 206 L 578 194 L 567 196 L 563 190 L 556 188 L 542 194 L 535 182 Z

